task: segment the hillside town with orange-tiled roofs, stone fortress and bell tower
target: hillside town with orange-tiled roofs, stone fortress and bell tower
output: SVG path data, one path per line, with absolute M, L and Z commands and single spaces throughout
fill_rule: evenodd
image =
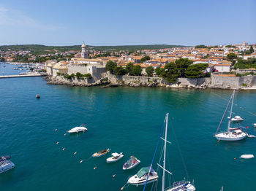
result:
M 206 64 L 203 73 L 221 72 L 229 75 L 232 71 L 255 73 L 256 44 L 229 44 L 219 46 L 198 45 L 195 47 L 173 47 L 159 50 L 136 50 L 118 52 L 88 50 L 83 42 L 81 51 L 49 53 L 34 55 L 31 50 L 1 50 L 1 61 L 19 62 L 18 58 L 29 63 L 40 63 L 49 76 L 90 74 L 97 81 L 106 73 L 107 63 L 116 63 L 118 67 L 126 68 L 132 64 L 141 69 L 136 73 L 140 76 L 157 76 L 158 69 L 165 69 L 167 63 L 175 63 L 178 59 L 187 58 L 192 64 Z M 247 63 L 248 62 L 248 63 Z M 147 72 L 151 70 L 151 72 Z M 108 69 L 107 69 L 108 70 Z M 125 72 L 110 71 L 112 74 Z M 159 72 L 158 72 L 159 73 Z M 250 74 L 251 74 L 250 73 Z M 127 74 L 128 75 L 128 74 Z M 135 74 L 133 74 L 135 75 Z

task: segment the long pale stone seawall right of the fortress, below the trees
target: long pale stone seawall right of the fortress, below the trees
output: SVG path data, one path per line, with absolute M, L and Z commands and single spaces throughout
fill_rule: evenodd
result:
M 168 83 L 162 77 L 115 76 L 108 74 L 111 84 L 148 87 L 188 87 L 188 88 L 218 88 L 218 89 L 255 89 L 256 76 L 225 77 L 214 75 L 202 78 L 178 78 L 176 83 Z

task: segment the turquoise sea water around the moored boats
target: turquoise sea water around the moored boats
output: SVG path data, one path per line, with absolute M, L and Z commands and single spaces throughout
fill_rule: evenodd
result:
M 35 98 L 37 93 L 40 99 Z M 174 175 L 172 180 L 187 176 L 183 158 L 197 190 L 214 191 L 222 186 L 225 191 L 256 190 L 256 160 L 234 160 L 243 154 L 256 155 L 256 139 L 218 143 L 213 137 L 231 93 L 68 87 L 47 85 L 41 77 L 0 79 L 0 155 L 11 155 L 15 163 L 15 169 L 0 174 L 0 190 L 120 190 L 129 176 L 150 165 L 167 112 L 172 142 L 167 145 L 167 167 Z M 255 91 L 238 91 L 234 112 L 244 117 L 243 125 L 249 125 L 249 132 L 256 135 L 252 128 L 256 122 L 255 98 Z M 83 123 L 87 132 L 64 136 Z M 226 127 L 227 120 L 222 130 Z M 111 164 L 105 162 L 110 154 L 89 158 L 105 148 L 124 152 L 124 158 Z M 141 163 L 123 171 L 130 155 Z M 154 168 L 157 162 L 158 158 Z

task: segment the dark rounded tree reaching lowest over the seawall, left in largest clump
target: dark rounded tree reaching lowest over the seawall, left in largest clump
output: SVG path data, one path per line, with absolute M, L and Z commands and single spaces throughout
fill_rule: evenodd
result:
M 178 69 L 175 63 L 167 63 L 165 69 L 162 71 L 161 77 L 165 78 L 167 82 L 173 83 L 177 81 Z

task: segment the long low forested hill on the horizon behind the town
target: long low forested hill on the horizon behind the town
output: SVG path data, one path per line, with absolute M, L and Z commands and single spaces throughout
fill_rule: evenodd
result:
M 146 50 L 146 49 L 163 49 L 171 47 L 185 47 L 181 45 L 152 44 L 152 45 L 124 45 L 124 46 L 91 46 L 87 45 L 89 50 L 118 51 L 118 50 Z M 23 44 L 23 45 L 2 45 L 0 50 L 30 50 L 33 52 L 65 52 L 68 50 L 80 50 L 80 45 L 74 46 L 45 46 L 40 44 Z

